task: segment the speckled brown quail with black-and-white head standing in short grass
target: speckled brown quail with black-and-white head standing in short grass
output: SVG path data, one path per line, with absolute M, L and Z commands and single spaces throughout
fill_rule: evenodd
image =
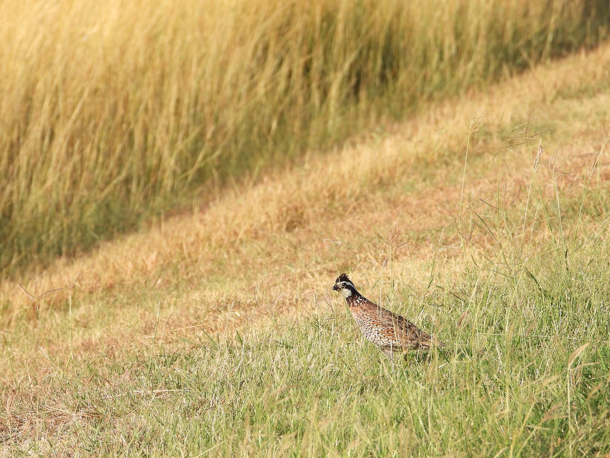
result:
M 346 274 L 339 275 L 332 289 L 343 294 L 364 336 L 391 360 L 395 353 L 445 346 L 402 316 L 373 304 L 356 291 L 356 286 Z

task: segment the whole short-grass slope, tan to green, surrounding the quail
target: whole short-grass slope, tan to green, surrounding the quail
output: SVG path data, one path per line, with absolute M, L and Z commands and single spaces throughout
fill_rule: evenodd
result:
M 36 300 L 0 283 L 2 453 L 605 454 L 609 81 L 606 45 L 58 260 Z M 389 365 L 342 271 L 448 350 Z

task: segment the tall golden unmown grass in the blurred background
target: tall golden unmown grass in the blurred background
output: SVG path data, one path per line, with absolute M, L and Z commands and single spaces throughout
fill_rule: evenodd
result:
M 0 2 L 0 270 L 594 46 L 593 0 Z

